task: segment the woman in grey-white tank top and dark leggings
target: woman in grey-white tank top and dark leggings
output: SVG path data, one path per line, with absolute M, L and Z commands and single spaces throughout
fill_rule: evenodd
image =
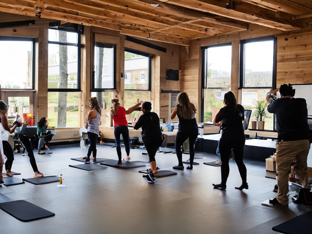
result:
M 100 132 L 101 124 L 101 109 L 96 97 L 90 98 L 90 111 L 88 112 L 87 123 L 85 128 L 87 129 L 90 145 L 85 159 L 85 164 L 90 163 L 90 156 L 92 153 L 93 164 L 96 164 L 96 142 Z M 104 144 L 100 135 L 100 144 Z

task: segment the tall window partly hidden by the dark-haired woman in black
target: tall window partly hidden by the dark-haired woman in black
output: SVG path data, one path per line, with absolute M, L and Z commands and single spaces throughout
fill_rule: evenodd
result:
M 231 90 L 232 45 L 202 47 L 202 121 L 213 122 Z

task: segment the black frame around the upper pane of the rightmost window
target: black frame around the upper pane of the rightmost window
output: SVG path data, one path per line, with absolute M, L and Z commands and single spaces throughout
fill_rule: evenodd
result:
M 272 67 L 272 85 L 271 86 L 259 86 L 259 87 L 245 87 L 244 85 L 244 51 L 245 44 L 251 42 L 262 42 L 262 41 L 270 41 L 273 39 L 273 67 Z M 240 41 L 240 57 L 239 57 L 239 81 L 238 81 L 238 90 L 241 89 L 266 89 L 266 88 L 276 88 L 276 65 L 277 65 L 277 37 L 269 36 L 269 37 L 259 37 L 252 38 Z

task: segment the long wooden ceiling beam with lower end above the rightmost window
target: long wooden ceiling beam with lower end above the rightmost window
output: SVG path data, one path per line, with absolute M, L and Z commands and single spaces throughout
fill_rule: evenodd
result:
M 244 14 L 235 10 L 227 9 L 223 4 L 213 0 L 156 0 L 166 2 L 180 7 L 188 7 L 197 11 L 208 12 L 219 16 L 241 20 L 253 24 L 262 25 L 265 27 L 276 28 L 283 31 L 292 31 L 300 29 L 298 25 L 293 26 L 293 22 L 279 20 L 276 18 L 258 18 L 253 15 Z

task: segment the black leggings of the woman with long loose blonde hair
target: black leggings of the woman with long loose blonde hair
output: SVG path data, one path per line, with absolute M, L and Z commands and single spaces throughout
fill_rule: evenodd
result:
M 188 139 L 190 148 L 190 167 L 193 167 L 193 161 L 195 156 L 194 144 L 197 136 L 198 136 L 198 128 L 192 129 L 187 132 L 177 132 L 174 142 L 176 154 L 179 161 L 179 166 L 183 166 L 181 146 Z

